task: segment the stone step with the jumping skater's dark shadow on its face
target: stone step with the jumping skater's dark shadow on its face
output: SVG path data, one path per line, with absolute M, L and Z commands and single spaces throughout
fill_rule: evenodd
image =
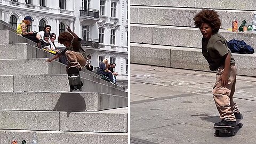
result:
M 127 97 L 103 93 L 1 92 L 0 97 L 1 110 L 99 111 L 128 106 Z

